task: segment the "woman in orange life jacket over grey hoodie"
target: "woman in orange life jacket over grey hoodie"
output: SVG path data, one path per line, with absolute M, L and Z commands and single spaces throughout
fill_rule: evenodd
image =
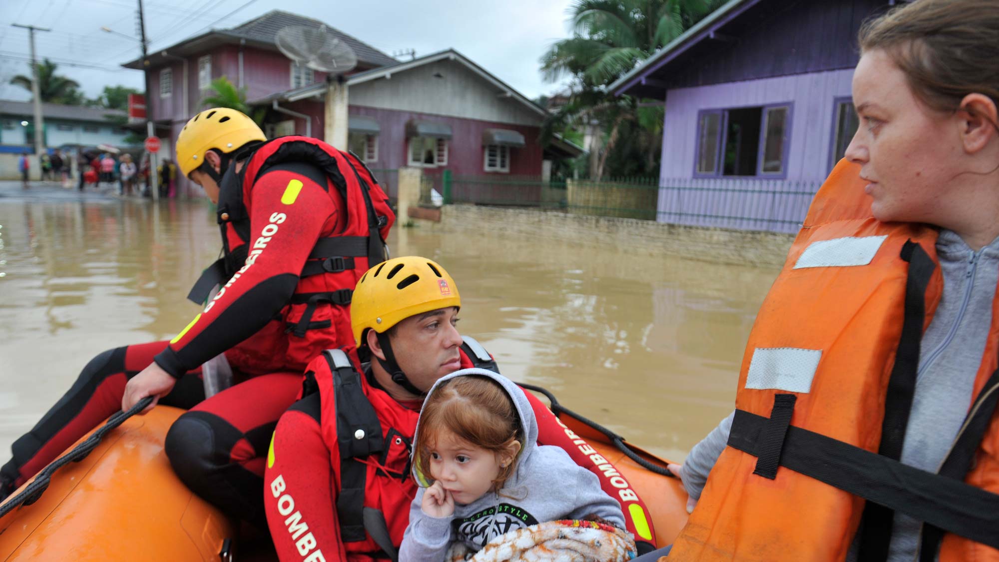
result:
M 672 467 L 699 500 L 669 560 L 999 560 L 999 9 L 920 0 L 859 43 L 850 162 Z

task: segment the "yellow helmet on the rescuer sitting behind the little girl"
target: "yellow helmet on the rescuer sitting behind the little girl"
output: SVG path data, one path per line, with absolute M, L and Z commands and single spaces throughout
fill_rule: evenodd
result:
M 358 347 L 365 330 L 383 333 L 401 321 L 424 312 L 462 306 L 455 280 L 433 260 L 405 256 L 368 270 L 354 289 L 351 328 Z

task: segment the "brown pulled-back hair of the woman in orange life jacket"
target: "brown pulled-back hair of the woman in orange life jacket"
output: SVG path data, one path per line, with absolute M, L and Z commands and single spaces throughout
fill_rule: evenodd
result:
M 931 109 L 957 110 L 971 93 L 999 106 L 999 4 L 995 0 L 917 0 L 869 19 L 862 52 L 884 49 Z

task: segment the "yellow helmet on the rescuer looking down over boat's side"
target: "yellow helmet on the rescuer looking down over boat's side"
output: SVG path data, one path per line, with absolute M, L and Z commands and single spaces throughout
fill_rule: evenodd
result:
M 201 166 L 205 151 L 232 152 L 244 144 L 266 141 L 264 131 L 243 112 L 227 107 L 206 109 L 191 118 L 177 135 L 177 165 L 185 176 Z

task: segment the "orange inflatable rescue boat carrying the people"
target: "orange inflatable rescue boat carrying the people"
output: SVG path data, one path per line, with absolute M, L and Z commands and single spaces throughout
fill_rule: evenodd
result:
M 664 469 L 666 463 L 636 447 L 622 446 L 616 435 L 556 401 L 552 411 L 616 466 L 650 510 L 656 543 L 670 544 L 686 522 L 686 493 L 677 479 L 646 468 Z M 0 560 L 225 562 L 235 558 L 237 549 L 241 562 L 275 560 L 273 550 L 261 540 L 238 544 L 239 527 L 174 475 L 163 440 L 183 412 L 157 406 L 145 416 L 121 422 L 100 441 L 91 439 L 90 453 L 55 470 L 34 503 L 15 507 L 0 518 Z

